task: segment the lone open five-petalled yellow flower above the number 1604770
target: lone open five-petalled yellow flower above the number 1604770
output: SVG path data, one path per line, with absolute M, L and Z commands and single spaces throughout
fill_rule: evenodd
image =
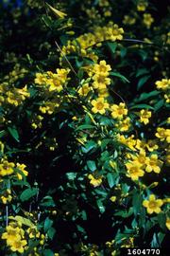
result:
M 152 214 L 153 212 L 160 213 L 163 202 L 161 199 L 156 199 L 154 194 L 149 196 L 148 200 L 144 200 L 143 206 L 146 208 L 147 213 Z

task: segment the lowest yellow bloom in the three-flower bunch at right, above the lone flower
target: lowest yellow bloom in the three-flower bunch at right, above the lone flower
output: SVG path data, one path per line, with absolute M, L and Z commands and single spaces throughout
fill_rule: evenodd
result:
M 144 170 L 139 162 L 132 161 L 126 164 L 127 176 L 132 180 L 138 180 L 139 177 L 144 176 Z

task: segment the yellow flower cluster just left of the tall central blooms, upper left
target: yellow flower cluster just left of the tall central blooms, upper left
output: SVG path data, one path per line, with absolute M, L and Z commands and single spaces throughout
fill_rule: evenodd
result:
M 49 92 L 60 92 L 63 90 L 63 86 L 68 82 L 69 69 L 57 68 L 56 73 L 47 71 L 46 73 L 36 73 L 34 82 L 42 85 L 43 89 L 47 89 Z

